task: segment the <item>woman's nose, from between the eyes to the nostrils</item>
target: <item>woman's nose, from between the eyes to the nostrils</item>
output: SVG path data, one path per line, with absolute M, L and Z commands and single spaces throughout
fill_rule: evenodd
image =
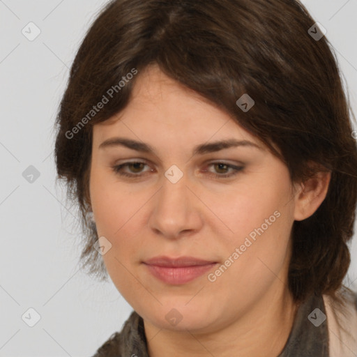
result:
M 151 204 L 149 225 L 155 234 L 172 239 L 195 234 L 202 228 L 204 204 L 185 174 L 176 183 L 163 176 L 162 187 Z

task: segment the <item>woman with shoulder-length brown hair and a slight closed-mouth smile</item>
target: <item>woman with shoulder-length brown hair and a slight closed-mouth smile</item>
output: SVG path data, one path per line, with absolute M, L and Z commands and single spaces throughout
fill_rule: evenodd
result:
M 356 141 L 301 3 L 110 1 L 57 124 L 83 266 L 134 309 L 95 357 L 357 355 Z

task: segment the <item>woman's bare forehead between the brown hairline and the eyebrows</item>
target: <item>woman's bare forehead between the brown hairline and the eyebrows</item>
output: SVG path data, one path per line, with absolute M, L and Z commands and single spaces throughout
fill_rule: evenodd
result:
M 265 146 L 230 114 L 167 77 L 158 66 L 138 74 L 128 105 L 121 112 L 94 126 L 97 147 L 114 137 L 145 142 L 159 151 L 169 148 L 172 152 L 175 147 L 191 151 L 204 143 L 227 139 Z

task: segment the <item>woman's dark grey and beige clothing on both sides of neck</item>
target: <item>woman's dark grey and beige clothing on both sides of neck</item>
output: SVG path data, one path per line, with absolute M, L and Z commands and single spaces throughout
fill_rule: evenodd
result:
M 357 294 L 351 299 L 345 323 L 352 337 L 337 335 L 335 312 L 325 296 L 310 296 L 298 307 L 287 343 L 277 357 L 357 356 Z M 331 320 L 331 321 L 330 321 Z M 355 337 L 355 338 L 354 338 Z M 333 353 L 329 351 L 330 340 Z M 120 333 L 114 333 L 92 357 L 149 357 L 144 321 L 133 311 Z

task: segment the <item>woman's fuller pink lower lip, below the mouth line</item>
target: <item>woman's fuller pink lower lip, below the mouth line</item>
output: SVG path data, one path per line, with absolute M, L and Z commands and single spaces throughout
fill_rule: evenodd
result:
M 145 264 L 151 274 L 167 284 L 185 284 L 209 271 L 217 263 L 199 265 L 199 266 L 155 266 Z

